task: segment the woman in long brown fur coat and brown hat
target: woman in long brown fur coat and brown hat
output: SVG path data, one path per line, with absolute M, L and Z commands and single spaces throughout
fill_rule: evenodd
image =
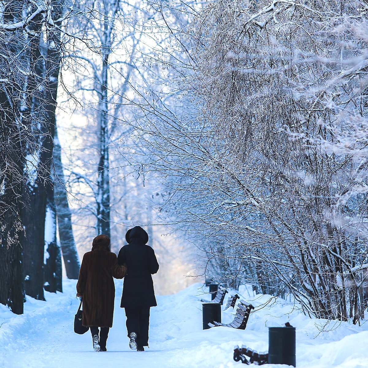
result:
M 83 302 L 82 325 L 90 328 L 95 351 L 106 351 L 107 335 L 113 325 L 113 277 L 122 279 L 127 272 L 125 266 L 118 265 L 116 254 L 110 252 L 109 245 L 110 238 L 106 235 L 93 239 L 92 251 L 83 256 L 77 283 L 77 296 Z

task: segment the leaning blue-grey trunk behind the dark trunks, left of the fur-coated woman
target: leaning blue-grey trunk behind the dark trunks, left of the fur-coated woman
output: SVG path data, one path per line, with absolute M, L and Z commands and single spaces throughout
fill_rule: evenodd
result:
M 61 162 L 61 146 L 57 137 L 55 125 L 54 135 L 54 168 L 55 168 L 55 204 L 57 215 L 57 227 L 59 229 L 59 238 L 61 251 L 68 279 L 78 279 L 79 275 L 79 257 L 73 236 L 71 211 L 68 203 L 68 194 L 65 188 L 65 178 L 63 172 L 63 163 Z

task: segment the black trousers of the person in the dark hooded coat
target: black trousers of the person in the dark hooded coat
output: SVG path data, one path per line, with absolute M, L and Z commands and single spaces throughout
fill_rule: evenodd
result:
M 131 332 L 137 333 L 138 346 L 148 346 L 149 308 L 125 308 L 128 337 Z

